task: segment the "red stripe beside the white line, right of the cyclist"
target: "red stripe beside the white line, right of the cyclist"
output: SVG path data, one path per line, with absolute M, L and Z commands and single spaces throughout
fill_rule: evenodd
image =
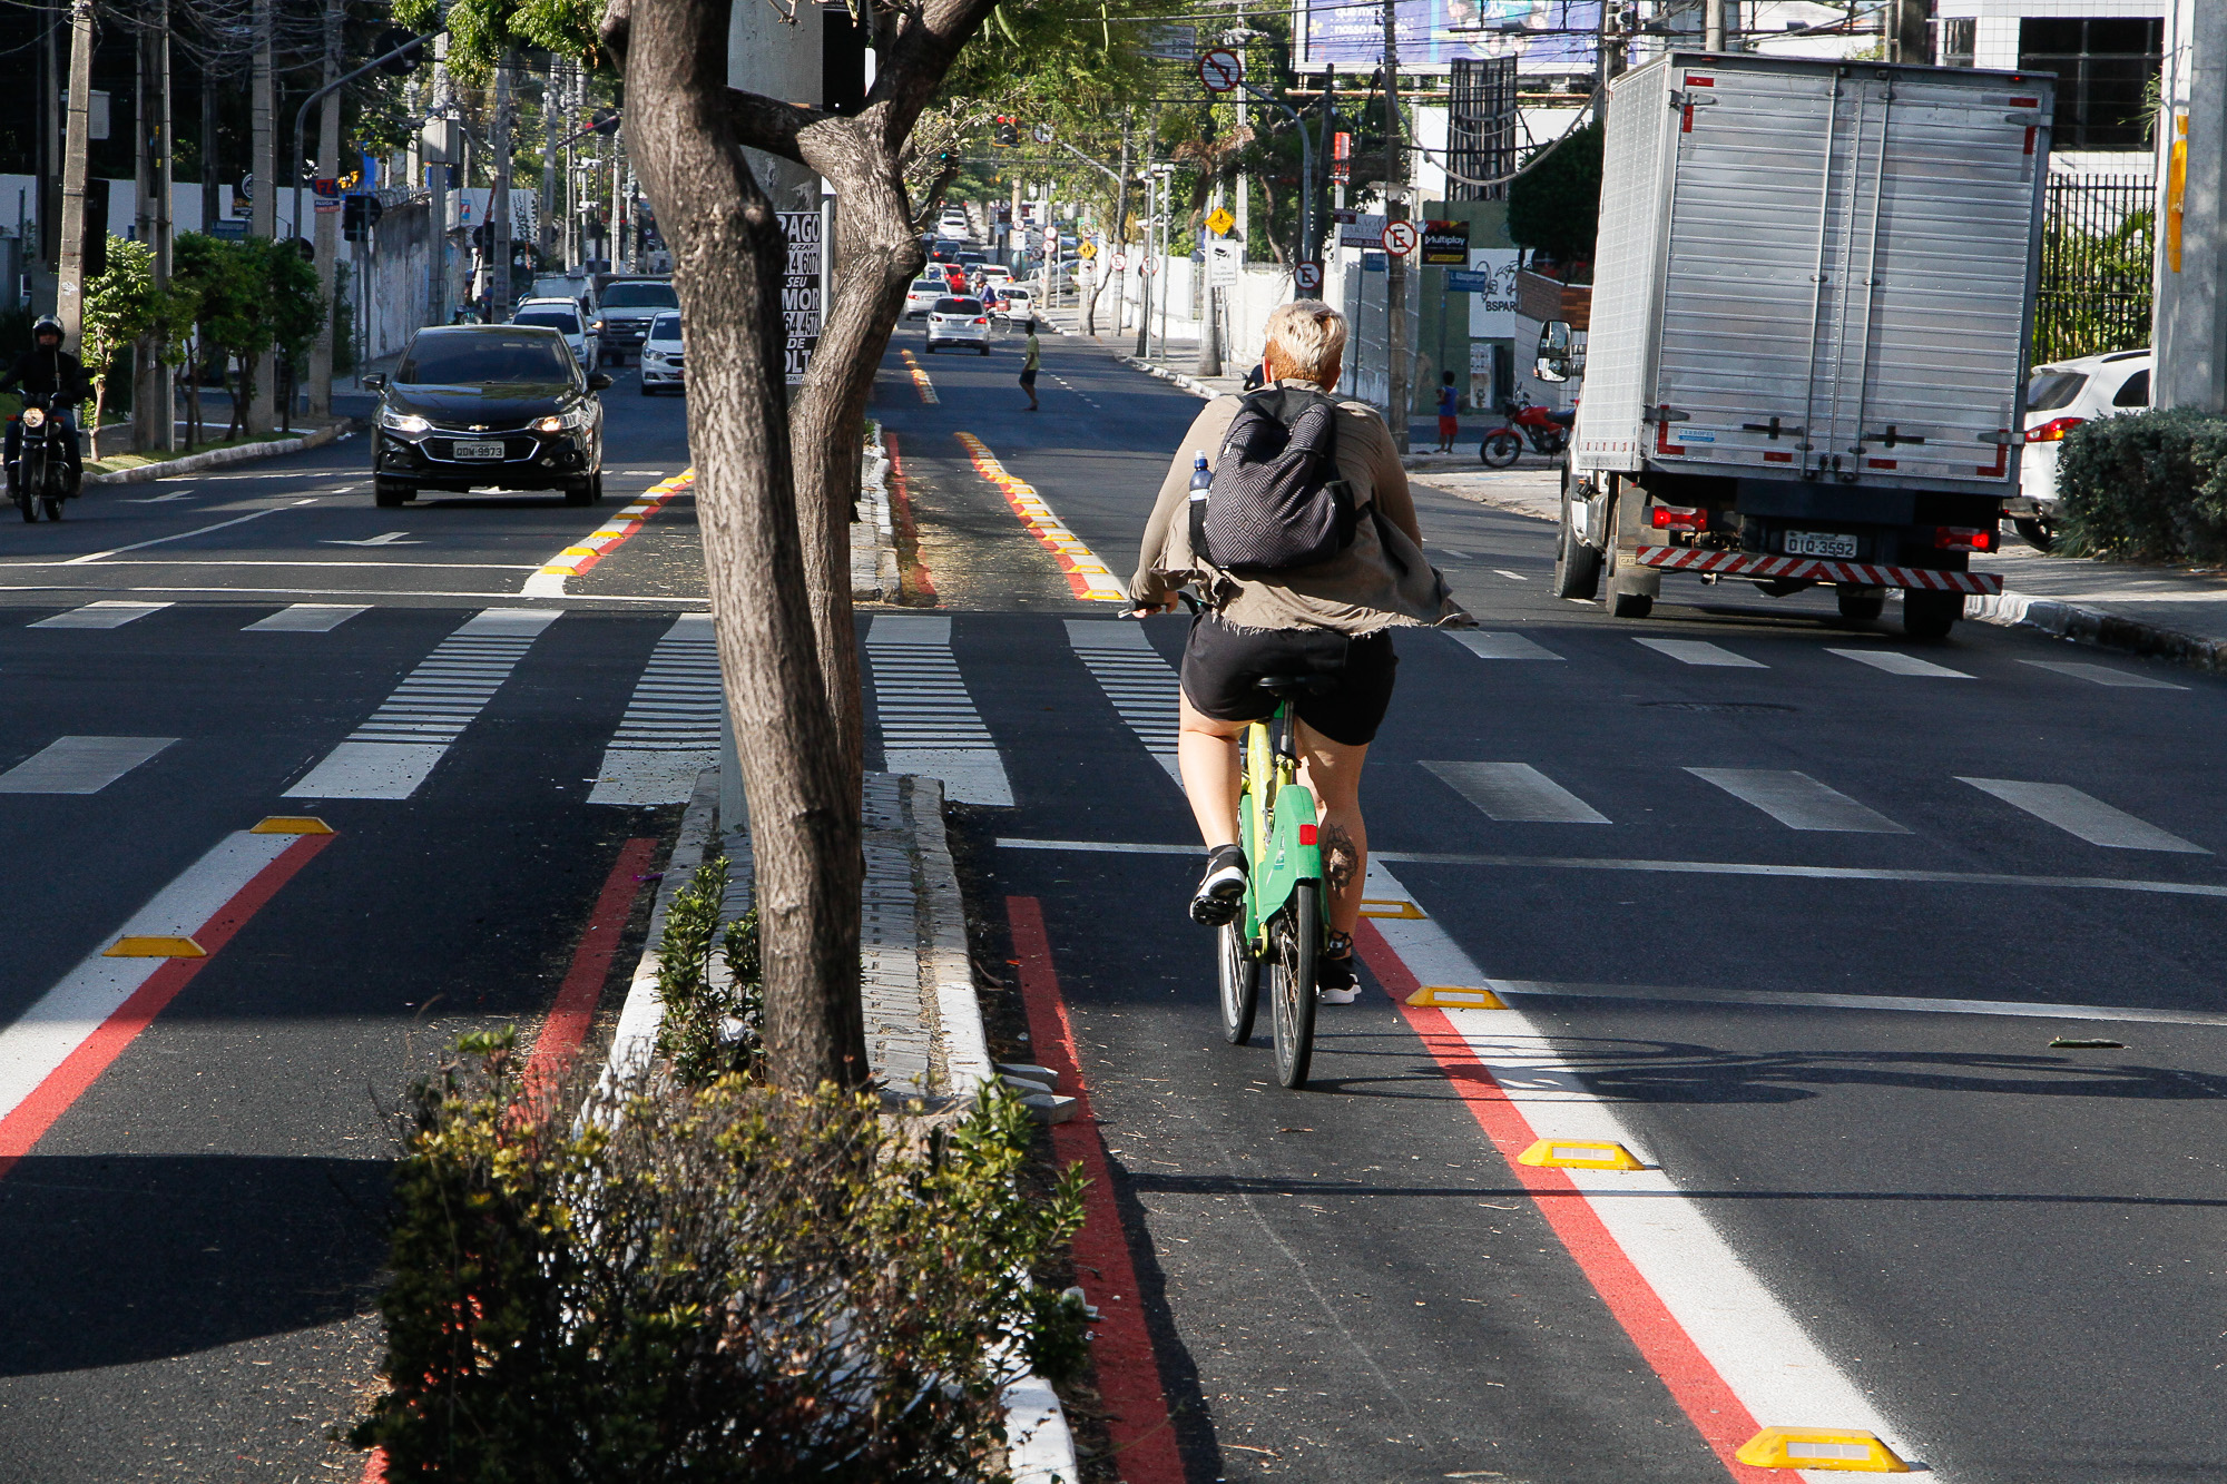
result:
M 1677 1317 L 1664 1308 L 1661 1297 L 1639 1275 L 1632 1259 L 1623 1254 L 1623 1248 L 1617 1246 L 1608 1228 L 1601 1226 L 1601 1219 L 1570 1177 L 1554 1168 L 1517 1163 L 1517 1154 L 1528 1150 L 1539 1139 L 1539 1132 L 1492 1078 L 1492 1070 L 1477 1061 L 1477 1052 L 1461 1038 L 1461 1032 L 1454 1029 L 1443 1009 L 1407 1003 L 1407 996 L 1421 989 L 1421 983 L 1367 918 L 1361 918 L 1361 925 L 1354 929 L 1354 949 L 1376 976 L 1376 983 L 1399 1005 L 1407 1025 L 1423 1041 L 1423 1047 L 1436 1058 L 1454 1094 L 1461 1096 L 1477 1125 L 1485 1130 L 1485 1139 L 1508 1161 L 1508 1172 L 1523 1181 L 1523 1188 L 1539 1203 L 1539 1212 L 1554 1228 L 1561 1246 L 1577 1259 L 1586 1279 L 1608 1304 L 1608 1312 L 1617 1317 L 1623 1332 L 1639 1346 L 1639 1355 L 1661 1377 L 1679 1410 L 1701 1433 L 1701 1439 L 1724 1462 L 1724 1468 L 1739 1484 L 1773 1484 L 1775 1480 L 1784 1480 L 1784 1471 L 1750 1468 L 1733 1457 L 1744 1442 L 1762 1431 L 1755 1415 L 1724 1384 L 1724 1377 L 1708 1364 L 1708 1357 L 1693 1344 L 1693 1337 L 1686 1335 Z

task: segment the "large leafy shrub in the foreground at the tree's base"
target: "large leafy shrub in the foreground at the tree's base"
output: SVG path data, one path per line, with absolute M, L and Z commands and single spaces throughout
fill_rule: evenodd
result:
M 408 1107 L 390 1390 L 354 1433 L 387 1480 L 993 1480 L 1004 1357 L 1080 1348 L 1031 1277 L 1080 1174 L 1027 1194 L 1004 1092 L 933 1141 L 737 1074 L 575 1116 L 521 1101 L 508 1034 L 457 1052 Z

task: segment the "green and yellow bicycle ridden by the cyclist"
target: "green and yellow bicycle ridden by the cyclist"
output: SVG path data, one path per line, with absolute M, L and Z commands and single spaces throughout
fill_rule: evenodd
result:
M 1276 1081 L 1307 1083 L 1314 1058 L 1314 960 L 1330 918 L 1323 914 L 1323 847 L 1314 840 L 1314 793 L 1298 782 L 1292 742 L 1292 697 L 1332 682 L 1269 677 L 1276 711 L 1245 729 L 1238 831 L 1245 840 L 1245 907 L 1218 931 L 1223 980 L 1223 1036 L 1229 1045 L 1252 1038 L 1260 1003 L 1260 969 L 1269 980 L 1269 1021 L 1276 1029 Z

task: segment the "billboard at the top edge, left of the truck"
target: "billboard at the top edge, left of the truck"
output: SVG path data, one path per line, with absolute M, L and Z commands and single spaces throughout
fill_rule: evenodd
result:
M 1454 58 L 1512 56 L 1523 74 L 1590 74 L 1601 0 L 1394 0 L 1401 71 L 1445 71 Z M 1385 53 L 1383 4 L 1292 0 L 1298 71 L 1374 71 Z

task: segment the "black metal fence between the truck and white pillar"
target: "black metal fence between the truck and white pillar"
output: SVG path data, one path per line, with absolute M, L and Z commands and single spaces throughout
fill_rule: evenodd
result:
M 2035 365 L 2149 345 L 2156 205 L 2149 176 L 2051 176 Z

